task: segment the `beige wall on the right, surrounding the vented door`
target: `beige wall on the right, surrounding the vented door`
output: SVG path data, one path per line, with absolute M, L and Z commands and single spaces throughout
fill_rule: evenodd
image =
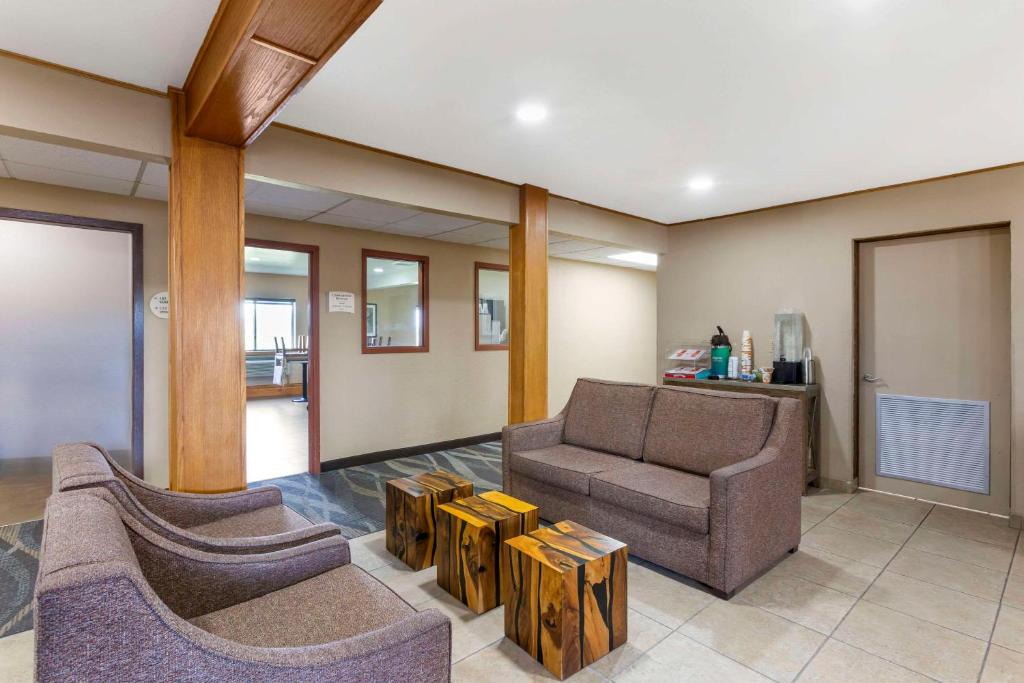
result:
M 1011 223 L 1011 301 L 1024 297 L 1024 168 L 978 173 L 671 228 L 658 268 L 658 342 L 705 338 L 721 324 L 738 343 L 753 332 L 757 362 L 776 310 L 807 315 L 819 358 L 825 477 L 852 481 L 853 240 L 983 223 Z M 1024 314 L 1012 307 L 1013 357 L 1024 350 Z M 1024 434 L 1024 367 L 1012 364 L 1013 440 Z M 1016 457 L 1015 457 L 1016 460 Z M 1012 509 L 1024 505 L 1014 466 Z

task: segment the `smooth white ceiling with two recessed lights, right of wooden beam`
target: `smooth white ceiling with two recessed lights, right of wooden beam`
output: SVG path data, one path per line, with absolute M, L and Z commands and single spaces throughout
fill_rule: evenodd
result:
M 1022 27 L 1020 0 L 387 0 L 281 120 L 679 221 L 1024 160 Z

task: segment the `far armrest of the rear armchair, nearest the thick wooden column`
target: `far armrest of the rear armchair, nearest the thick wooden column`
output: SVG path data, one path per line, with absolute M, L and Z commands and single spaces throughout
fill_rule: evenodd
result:
M 284 502 L 276 486 L 258 486 L 228 494 L 185 494 L 140 485 L 131 479 L 121 481 L 152 513 L 183 528 L 283 505 Z

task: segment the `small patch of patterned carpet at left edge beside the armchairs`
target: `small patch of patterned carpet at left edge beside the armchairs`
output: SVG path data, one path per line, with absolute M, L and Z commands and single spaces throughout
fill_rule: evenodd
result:
M 43 522 L 0 526 L 0 638 L 32 628 Z

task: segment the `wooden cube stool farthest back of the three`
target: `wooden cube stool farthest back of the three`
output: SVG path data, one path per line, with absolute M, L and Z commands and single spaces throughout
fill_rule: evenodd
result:
M 437 470 L 387 482 L 385 540 L 389 553 L 419 571 L 433 566 L 437 506 L 473 495 L 473 483 Z

